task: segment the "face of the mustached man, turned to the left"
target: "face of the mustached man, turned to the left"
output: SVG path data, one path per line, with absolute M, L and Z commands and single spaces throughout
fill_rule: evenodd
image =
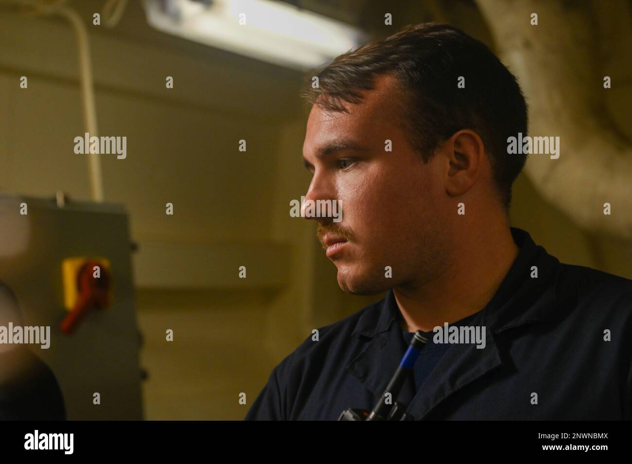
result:
M 337 200 L 342 209 L 341 222 L 314 218 L 318 238 L 337 267 L 339 286 L 360 295 L 427 281 L 446 249 L 441 161 L 424 164 L 398 127 L 396 81 L 381 76 L 375 83 L 361 104 L 347 106 L 349 113 L 315 104 L 303 143 L 313 174 L 305 201 Z M 343 142 L 358 148 L 340 149 Z M 325 151 L 335 143 L 338 149 Z M 340 240 L 346 241 L 332 245 Z

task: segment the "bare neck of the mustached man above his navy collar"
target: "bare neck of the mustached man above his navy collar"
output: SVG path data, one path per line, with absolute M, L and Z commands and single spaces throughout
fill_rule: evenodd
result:
M 509 225 L 484 229 L 478 236 L 465 234 L 451 248 L 451 265 L 425 283 L 407 283 L 393 288 L 408 332 L 432 331 L 482 310 L 509 272 L 518 247 Z

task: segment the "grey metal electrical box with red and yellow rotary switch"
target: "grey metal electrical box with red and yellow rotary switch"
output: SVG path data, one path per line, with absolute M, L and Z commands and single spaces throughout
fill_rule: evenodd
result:
M 0 195 L 0 281 L 17 296 L 25 326 L 51 327 L 48 349 L 27 346 L 56 375 L 68 420 L 143 418 L 128 230 L 122 205 Z M 69 313 L 68 262 L 81 257 L 107 263 L 111 298 L 68 334 L 60 329 Z

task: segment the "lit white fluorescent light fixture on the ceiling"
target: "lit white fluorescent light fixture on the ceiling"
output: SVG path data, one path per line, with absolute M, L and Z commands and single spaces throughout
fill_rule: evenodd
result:
M 270 0 L 146 0 L 145 14 L 162 32 L 301 71 L 365 40 L 358 28 Z

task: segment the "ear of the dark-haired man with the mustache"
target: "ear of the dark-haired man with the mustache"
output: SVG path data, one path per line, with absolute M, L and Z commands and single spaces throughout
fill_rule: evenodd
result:
M 463 129 L 446 140 L 443 148 L 449 161 L 446 192 L 451 197 L 458 197 L 477 182 L 483 167 L 485 147 L 475 131 Z

